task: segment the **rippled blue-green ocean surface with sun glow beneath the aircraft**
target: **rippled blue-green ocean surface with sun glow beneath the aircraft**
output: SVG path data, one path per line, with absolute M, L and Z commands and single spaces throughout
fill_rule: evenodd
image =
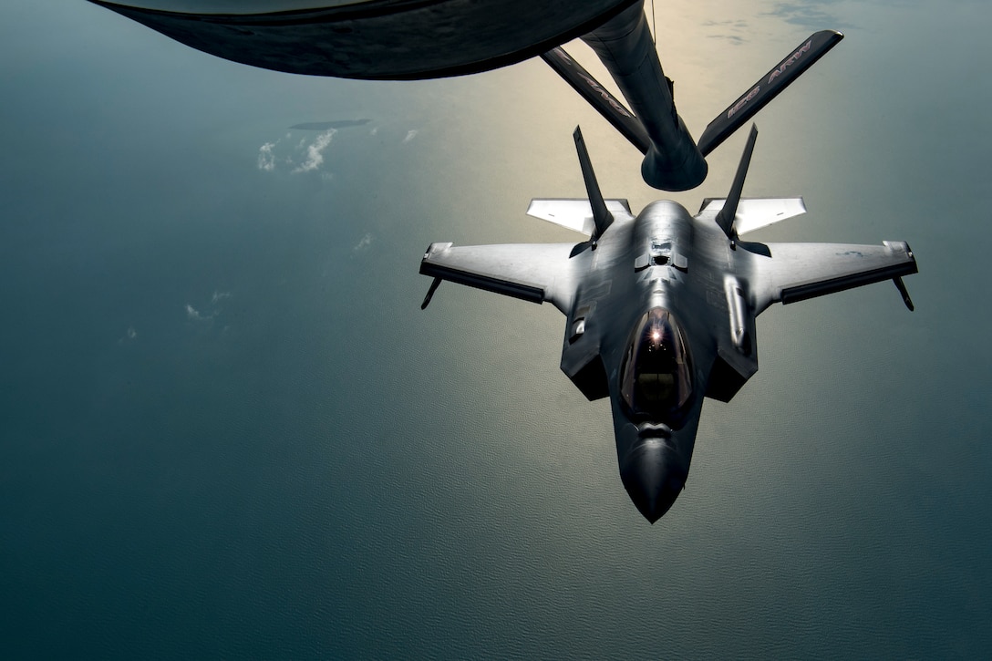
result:
M 657 11 L 695 135 L 842 30 L 757 117 L 746 194 L 809 208 L 758 238 L 907 240 L 921 273 L 912 314 L 888 284 L 766 312 L 651 526 L 557 311 L 420 310 L 432 241 L 570 239 L 524 210 L 583 195 L 575 124 L 606 195 L 664 196 L 543 63 L 321 79 L 4 4 L 0 657 L 987 656 L 992 10 Z M 743 139 L 674 198 L 724 195 Z

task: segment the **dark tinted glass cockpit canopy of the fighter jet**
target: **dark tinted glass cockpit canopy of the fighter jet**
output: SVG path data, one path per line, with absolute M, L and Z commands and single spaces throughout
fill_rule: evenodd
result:
M 680 429 L 692 397 L 692 364 L 682 329 L 654 308 L 631 333 L 620 367 L 620 395 L 633 420 Z

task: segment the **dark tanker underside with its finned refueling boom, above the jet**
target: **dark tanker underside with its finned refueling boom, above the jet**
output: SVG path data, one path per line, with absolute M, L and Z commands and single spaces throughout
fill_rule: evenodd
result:
M 807 38 L 709 123 L 696 143 L 676 108 L 644 0 L 90 0 L 191 48 L 280 71 L 424 79 L 540 56 L 643 155 L 644 181 L 699 186 L 705 157 L 842 38 Z M 560 48 L 575 38 L 610 72 L 628 109 Z

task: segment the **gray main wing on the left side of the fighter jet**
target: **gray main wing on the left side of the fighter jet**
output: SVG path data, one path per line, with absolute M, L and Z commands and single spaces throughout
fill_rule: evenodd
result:
M 575 290 L 574 247 L 574 243 L 432 243 L 421 262 L 421 274 L 434 277 L 424 307 L 440 281 L 449 280 L 531 303 L 549 301 L 564 313 Z

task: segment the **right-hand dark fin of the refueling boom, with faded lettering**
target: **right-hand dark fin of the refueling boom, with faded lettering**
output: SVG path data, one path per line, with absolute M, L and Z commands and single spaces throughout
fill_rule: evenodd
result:
M 843 38 L 841 33 L 834 30 L 821 30 L 810 35 L 789 54 L 789 57 L 763 75 L 726 110 L 709 122 L 706 130 L 699 136 L 699 152 L 706 156 L 716 149 Z

